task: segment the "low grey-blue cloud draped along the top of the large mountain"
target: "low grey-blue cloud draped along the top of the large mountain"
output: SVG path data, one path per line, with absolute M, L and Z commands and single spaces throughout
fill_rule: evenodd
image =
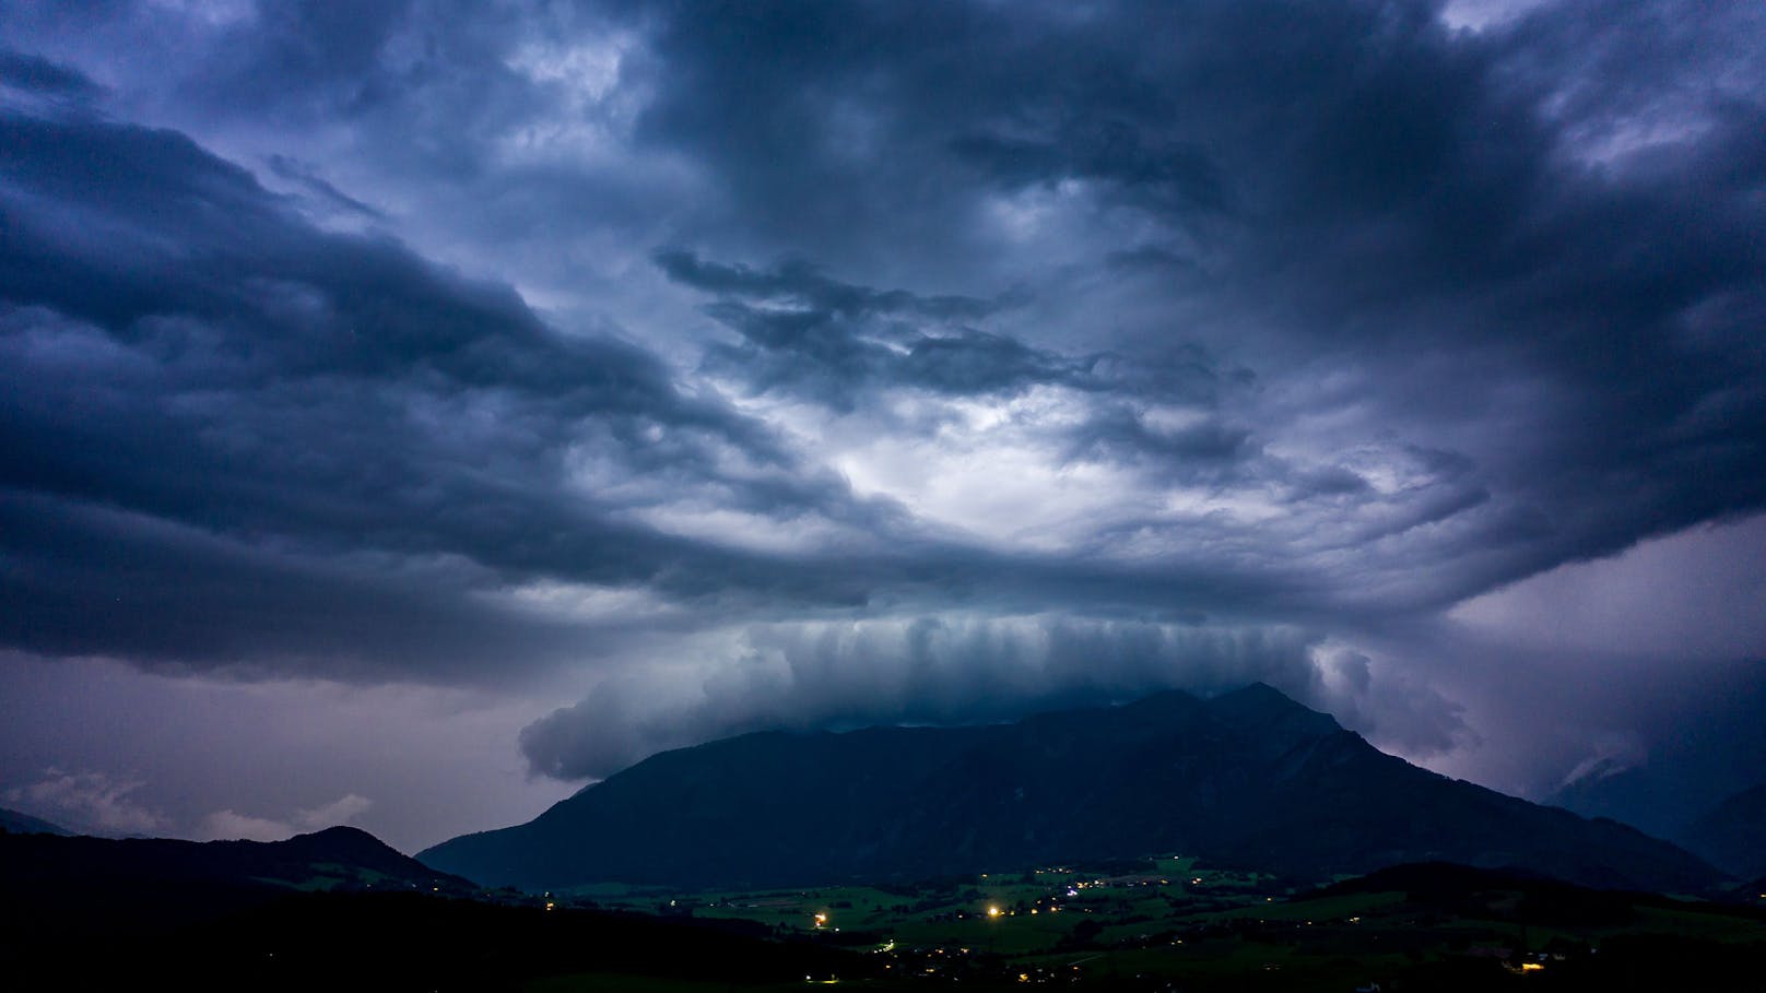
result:
M 657 751 L 756 730 L 987 723 L 1247 682 L 1268 682 L 1422 754 L 1464 733 L 1446 700 L 1402 675 L 1370 677 L 1365 657 L 1346 664 L 1342 652 L 1326 657 L 1321 648 L 1317 634 L 1284 625 L 1072 617 L 751 627 L 736 657 L 609 677 L 523 730 L 521 749 L 537 774 L 599 779 Z

